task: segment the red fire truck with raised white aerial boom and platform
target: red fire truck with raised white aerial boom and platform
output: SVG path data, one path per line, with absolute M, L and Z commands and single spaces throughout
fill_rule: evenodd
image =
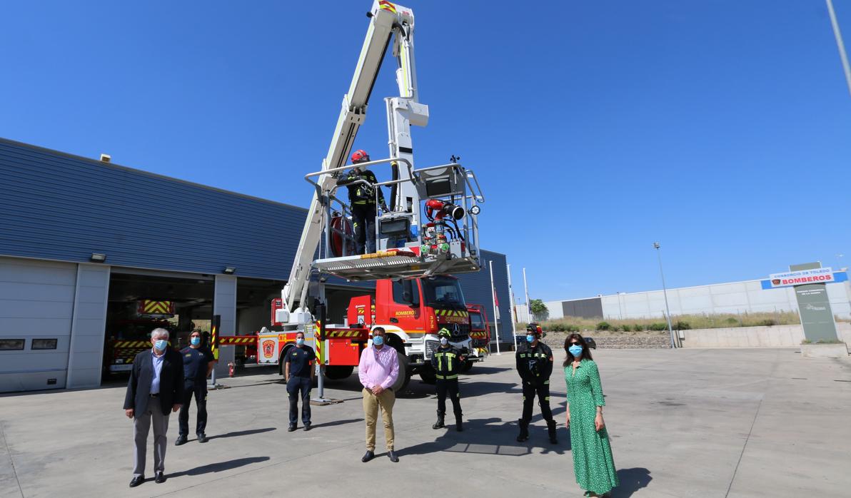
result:
M 304 331 L 317 351 L 328 378 L 351 375 L 371 330 L 382 326 L 387 345 L 397 350 L 405 375 L 402 388 L 416 372 L 428 378 L 437 331 L 446 326 L 454 346 L 471 361 L 483 358 L 471 345 L 470 316 L 458 280 L 452 274 L 476 272 L 479 261 L 477 216 L 484 201 L 475 173 L 448 163 L 416 167 L 411 127 L 425 127 L 429 108 L 420 103 L 414 65 L 414 13 L 386 0 L 376 0 L 367 13 L 368 30 L 322 169 L 305 175 L 313 198 L 307 213 L 292 271 L 281 297 L 271 306 L 271 325 L 256 337 L 258 363 L 277 364 L 295 334 Z M 387 51 L 397 61 L 397 97 L 385 99 L 389 157 L 358 167 L 391 179 L 365 180 L 376 205 L 380 189 L 390 191 L 388 207 L 377 212 L 375 251 L 351 250 L 351 209 L 338 196 L 338 181 L 351 166 L 346 161 L 358 129 L 366 118 L 370 93 Z M 380 170 L 384 170 L 383 172 Z M 389 173 L 389 174 L 388 174 Z M 356 182 L 357 183 L 357 182 Z M 351 184 L 351 183 L 350 183 Z M 316 257 L 318 255 L 318 257 Z M 351 299 L 343 324 L 326 322 L 324 282 L 333 275 L 345 280 L 376 280 L 370 296 Z M 221 337 L 238 341 L 239 337 Z M 223 342 L 227 343 L 227 342 Z M 323 396 L 323 376 L 319 376 Z

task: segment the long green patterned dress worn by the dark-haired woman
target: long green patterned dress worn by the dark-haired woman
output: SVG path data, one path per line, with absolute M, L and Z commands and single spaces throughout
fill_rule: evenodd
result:
M 597 406 L 606 405 L 600 372 L 591 359 L 583 359 L 573 373 L 573 365 L 564 369 L 570 404 L 570 445 L 574 454 L 576 482 L 583 490 L 597 495 L 608 493 L 618 482 L 614 471 L 612 447 L 606 427 L 598 433 L 594 428 Z

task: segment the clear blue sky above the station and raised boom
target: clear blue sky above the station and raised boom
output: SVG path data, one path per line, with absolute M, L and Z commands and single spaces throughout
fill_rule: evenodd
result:
M 306 207 L 368 0 L 5 3 L 0 136 Z M 851 97 L 823 2 L 408 1 L 420 167 L 456 154 L 522 295 L 848 265 Z M 851 3 L 835 2 L 851 44 Z M 357 148 L 386 156 L 388 60 Z M 837 257 L 845 254 L 845 257 Z

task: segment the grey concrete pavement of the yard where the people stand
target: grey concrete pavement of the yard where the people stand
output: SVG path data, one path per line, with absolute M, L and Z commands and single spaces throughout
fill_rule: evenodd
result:
M 614 496 L 848 496 L 851 360 L 802 359 L 794 348 L 595 354 L 621 482 Z M 463 433 L 431 429 L 433 388 L 412 380 L 394 409 L 397 464 L 384 455 L 380 430 L 378 456 L 360 461 L 357 376 L 328 384 L 326 395 L 345 402 L 313 407 L 307 433 L 286 431 L 276 374 L 225 379 L 231 388 L 209 394 L 209 442 L 175 447 L 174 414 L 168 481 L 132 490 L 122 386 L 0 396 L 0 496 L 366 496 L 377 487 L 414 496 L 581 496 L 561 374 L 552 381 L 559 444 L 548 443 L 537 412 L 531 439 L 519 444 L 513 363 L 512 354 L 493 356 L 462 379 Z

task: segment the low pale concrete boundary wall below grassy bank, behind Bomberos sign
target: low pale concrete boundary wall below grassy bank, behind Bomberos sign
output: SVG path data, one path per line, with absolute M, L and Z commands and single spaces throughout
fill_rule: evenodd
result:
M 734 327 L 681 331 L 683 348 L 797 348 L 803 340 L 801 325 Z M 840 341 L 851 343 L 851 323 L 837 323 Z

